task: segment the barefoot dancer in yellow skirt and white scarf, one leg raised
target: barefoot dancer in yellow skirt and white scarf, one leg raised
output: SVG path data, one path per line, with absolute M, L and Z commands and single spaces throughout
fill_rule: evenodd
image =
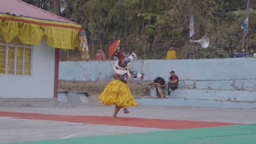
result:
M 132 56 L 118 60 L 114 68 L 114 80 L 110 81 L 98 100 L 104 105 L 115 105 L 115 110 L 112 119 L 119 119 L 117 114 L 121 107 L 124 108 L 124 113 L 130 113 L 127 110 L 129 106 L 137 106 L 135 99 L 133 99 L 129 87 L 126 85 L 130 77 L 143 79 L 143 74 L 136 73 L 136 71 L 129 70 L 127 64 L 133 60 Z

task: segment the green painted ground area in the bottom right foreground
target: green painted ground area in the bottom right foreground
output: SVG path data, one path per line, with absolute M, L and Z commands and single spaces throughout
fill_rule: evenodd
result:
M 77 139 L 48 140 L 23 143 L 256 143 L 256 124 L 229 125 L 215 128 L 195 128 L 171 131 L 157 131 L 152 133 L 141 134 L 80 137 Z

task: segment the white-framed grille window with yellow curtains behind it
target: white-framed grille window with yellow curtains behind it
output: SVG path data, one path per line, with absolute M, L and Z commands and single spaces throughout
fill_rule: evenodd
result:
M 0 74 L 31 75 L 32 46 L 0 41 Z

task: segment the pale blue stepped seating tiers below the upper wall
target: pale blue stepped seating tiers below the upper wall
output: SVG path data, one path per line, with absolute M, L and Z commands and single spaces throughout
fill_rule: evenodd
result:
M 167 95 L 167 88 L 164 89 Z M 150 97 L 156 98 L 155 88 Z M 168 99 L 138 99 L 144 105 L 197 106 L 220 108 L 256 108 L 256 79 L 249 80 L 182 80 Z

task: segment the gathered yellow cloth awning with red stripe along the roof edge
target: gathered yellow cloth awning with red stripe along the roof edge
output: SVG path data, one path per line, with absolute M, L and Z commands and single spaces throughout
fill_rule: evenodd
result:
M 0 14 L 0 33 L 7 43 L 18 35 L 22 44 L 39 45 L 44 36 L 50 47 L 73 50 L 79 47 L 80 25 Z

